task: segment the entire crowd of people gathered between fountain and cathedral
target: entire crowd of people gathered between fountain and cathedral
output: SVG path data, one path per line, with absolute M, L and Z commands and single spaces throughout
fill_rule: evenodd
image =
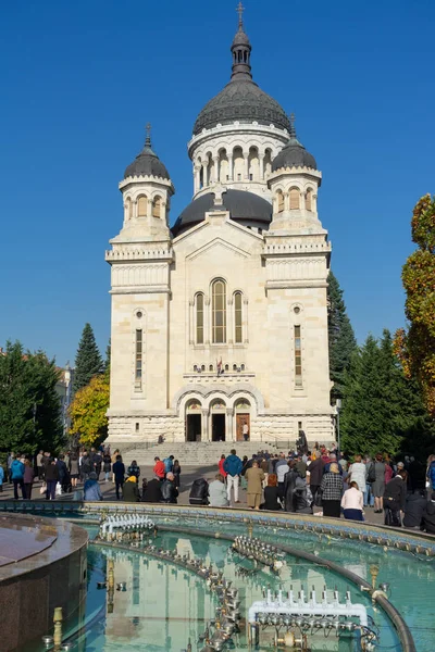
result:
M 102 500 L 101 482 L 113 482 L 116 500 L 125 502 L 176 503 L 182 467 L 174 455 L 154 457 L 153 478 L 140 478 L 133 460 L 124 464 L 121 452 L 109 447 L 59 453 L 39 451 L 33 457 L 11 452 L 0 465 L 3 482 L 13 485 L 14 498 L 32 499 L 39 492 L 47 500 L 74 492 L 86 501 Z M 102 474 L 102 475 L 101 475 Z M 77 488 L 82 494 L 78 496 Z M 321 514 L 326 517 L 364 521 L 366 510 L 384 514 L 385 525 L 422 529 L 435 534 L 435 455 L 427 465 L 412 456 L 394 461 L 388 454 L 353 455 L 347 459 L 336 449 L 318 443 L 311 451 L 272 454 L 259 451 L 250 460 L 240 459 L 235 449 L 221 455 L 212 481 L 199 477 L 191 484 L 189 503 L 228 507 L 237 505 L 240 489 L 252 510 Z M 318 507 L 318 510 L 314 510 Z

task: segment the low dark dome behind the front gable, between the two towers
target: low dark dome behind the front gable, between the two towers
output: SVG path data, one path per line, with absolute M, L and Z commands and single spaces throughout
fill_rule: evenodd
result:
M 272 220 L 272 204 L 268 200 L 244 190 L 226 190 L 222 193 L 223 210 L 229 211 L 232 220 L 244 226 L 268 229 Z M 206 213 L 214 206 L 214 192 L 207 192 L 195 199 L 179 215 L 172 227 L 174 236 L 199 224 Z

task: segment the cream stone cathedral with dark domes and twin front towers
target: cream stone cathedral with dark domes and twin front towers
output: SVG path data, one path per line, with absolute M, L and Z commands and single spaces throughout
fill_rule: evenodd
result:
M 175 188 L 149 131 L 120 184 L 105 254 L 113 443 L 332 436 L 322 174 L 252 79 L 241 12 L 231 79 L 188 143 L 191 203 L 171 228 Z

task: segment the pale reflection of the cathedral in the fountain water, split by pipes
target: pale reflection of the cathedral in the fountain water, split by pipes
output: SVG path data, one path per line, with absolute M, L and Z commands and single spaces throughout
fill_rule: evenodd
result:
M 176 549 L 182 555 L 202 557 L 208 565 L 211 563 L 222 570 L 239 589 L 243 615 L 250 604 L 262 599 L 268 585 L 283 590 L 291 586 L 296 592 L 314 588 L 321 593 L 326 581 L 324 570 L 309 563 L 285 566 L 279 577 L 260 570 L 249 579 L 241 579 L 228 543 L 216 539 L 164 535 L 159 544 Z M 120 650 L 123 643 L 130 649 L 137 641 L 141 651 L 178 652 L 187 648 L 189 639 L 196 650 L 197 641 L 215 615 L 216 602 L 206 582 L 172 564 L 141 554 L 110 551 L 108 556 L 114 560 L 115 585 L 126 582 L 126 590 L 113 592 L 113 611 L 110 609 L 107 614 L 104 650 L 112 650 L 112 645 L 113 650 Z M 236 649 L 246 645 L 243 623 Z M 330 641 L 327 650 L 338 648 Z

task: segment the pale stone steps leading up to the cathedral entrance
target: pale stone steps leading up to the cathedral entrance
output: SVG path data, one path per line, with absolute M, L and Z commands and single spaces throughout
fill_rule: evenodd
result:
M 111 446 L 111 450 L 114 448 Z M 216 465 L 221 455 L 229 455 L 232 449 L 236 449 L 237 455 L 251 457 L 253 453 L 268 450 L 270 453 L 278 453 L 279 449 L 274 443 L 263 441 L 197 441 L 197 442 L 163 442 L 150 446 L 149 448 L 140 444 L 119 446 L 123 461 L 129 464 L 136 460 L 140 466 L 153 466 L 154 457 L 161 460 L 174 455 L 183 466 L 213 466 Z M 286 449 L 288 450 L 288 449 Z

